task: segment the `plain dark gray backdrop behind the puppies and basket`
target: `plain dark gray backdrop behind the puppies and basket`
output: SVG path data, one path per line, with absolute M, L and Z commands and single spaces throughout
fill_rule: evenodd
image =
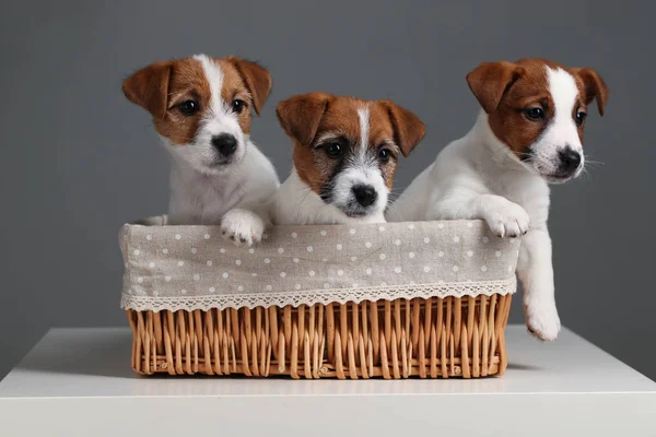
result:
M 168 163 L 121 80 L 208 52 L 260 60 L 273 74 L 253 138 L 281 177 L 290 141 L 278 101 L 321 90 L 411 108 L 427 135 L 397 188 L 472 125 L 465 74 L 479 62 L 530 56 L 597 69 L 611 97 L 606 117 L 590 109 L 585 150 L 605 165 L 553 189 L 558 305 L 565 326 L 656 378 L 648 2 L 104 3 L 12 1 L 0 12 L 0 377 L 48 327 L 127 326 L 117 232 L 165 211 Z M 523 321 L 520 299 L 512 321 Z

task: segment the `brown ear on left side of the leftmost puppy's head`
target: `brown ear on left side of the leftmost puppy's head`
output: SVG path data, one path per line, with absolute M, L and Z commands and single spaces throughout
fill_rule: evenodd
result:
M 128 99 L 152 114 L 164 118 L 168 101 L 168 79 L 173 62 L 155 62 L 124 81 L 122 91 Z

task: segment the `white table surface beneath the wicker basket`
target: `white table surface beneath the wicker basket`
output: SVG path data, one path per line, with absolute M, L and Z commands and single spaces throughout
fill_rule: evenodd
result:
M 141 377 L 128 329 L 52 329 L 0 382 L 0 436 L 656 436 L 656 382 L 566 329 L 506 339 L 500 378 L 294 381 Z

